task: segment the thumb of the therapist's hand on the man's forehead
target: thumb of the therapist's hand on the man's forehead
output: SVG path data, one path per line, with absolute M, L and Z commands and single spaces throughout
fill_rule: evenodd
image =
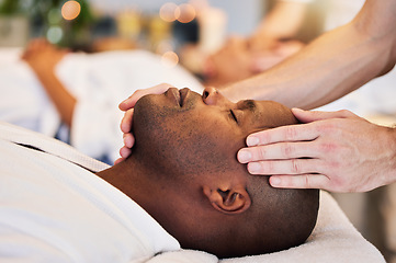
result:
M 354 117 L 353 113 L 347 110 L 337 112 L 320 112 L 320 111 L 303 111 L 301 108 L 292 108 L 294 116 L 302 123 L 312 123 L 316 121 L 329 119 L 329 118 L 347 118 Z

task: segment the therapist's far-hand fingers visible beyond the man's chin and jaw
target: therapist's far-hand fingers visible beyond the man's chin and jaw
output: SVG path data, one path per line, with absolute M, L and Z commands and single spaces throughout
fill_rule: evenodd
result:
M 124 147 L 120 149 L 121 158 L 115 161 L 115 163 L 126 159 L 131 155 L 131 148 L 135 144 L 134 135 L 131 133 L 132 119 L 134 116 L 134 106 L 136 102 L 144 95 L 147 94 L 161 94 L 166 92 L 169 88 L 173 85 L 168 83 L 161 83 L 145 90 L 136 90 L 128 99 L 121 102 L 118 107 L 124 111 L 124 117 L 121 121 L 121 130 L 124 133 Z

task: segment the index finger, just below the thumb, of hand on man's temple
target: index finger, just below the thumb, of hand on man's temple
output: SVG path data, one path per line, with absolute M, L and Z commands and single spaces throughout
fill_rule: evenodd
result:
M 248 146 L 258 146 L 281 141 L 314 140 L 319 136 L 315 125 L 315 123 L 299 124 L 261 130 L 249 135 L 246 144 Z

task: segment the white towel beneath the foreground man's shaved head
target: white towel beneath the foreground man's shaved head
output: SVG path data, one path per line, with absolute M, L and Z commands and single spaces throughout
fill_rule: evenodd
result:
M 320 192 L 317 225 L 307 242 L 288 250 L 254 256 L 217 260 L 212 254 L 181 250 L 155 256 L 148 263 L 376 263 L 385 262 L 380 251 L 351 225 L 331 195 Z

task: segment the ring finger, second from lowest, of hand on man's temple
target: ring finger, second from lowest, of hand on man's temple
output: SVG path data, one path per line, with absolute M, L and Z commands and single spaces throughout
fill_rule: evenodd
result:
M 248 171 L 259 175 L 320 173 L 320 164 L 318 159 L 258 161 L 249 162 Z

